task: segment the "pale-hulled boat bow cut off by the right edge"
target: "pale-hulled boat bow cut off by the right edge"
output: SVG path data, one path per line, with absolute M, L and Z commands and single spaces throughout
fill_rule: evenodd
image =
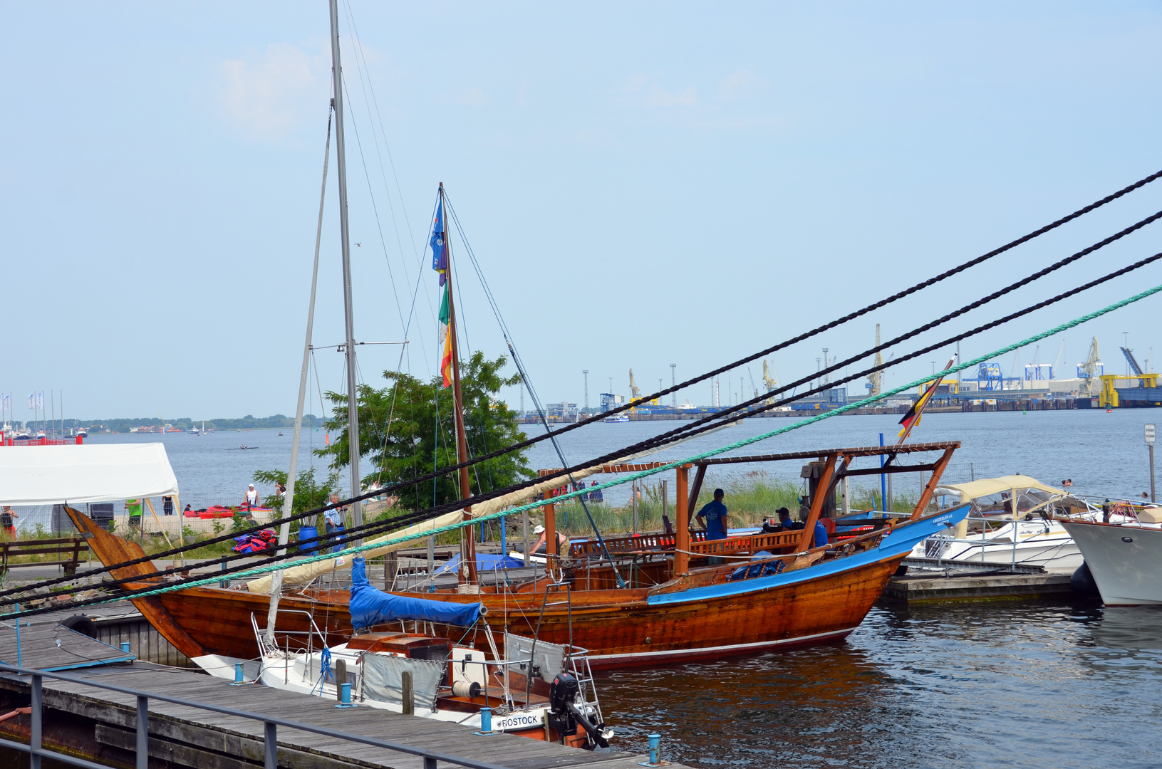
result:
M 1162 604 L 1162 508 L 1145 508 L 1135 517 L 1061 522 L 1110 606 Z

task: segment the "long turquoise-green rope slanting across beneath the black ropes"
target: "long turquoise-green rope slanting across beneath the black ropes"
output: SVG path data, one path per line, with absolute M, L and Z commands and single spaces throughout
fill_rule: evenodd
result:
M 856 401 L 854 403 L 848 403 L 846 405 L 841 405 L 839 408 L 831 409 L 830 411 L 825 411 L 825 412 L 816 415 L 813 417 L 809 417 L 806 419 L 802 419 L 802 421 L 796 422 L 796 423 L 794 423 L 791 425 L 788 425 L 786 427 L 780 427 L 779 430 L 772 430 L 770 432 L 765 432 L 762 434 L 754 436 L 753 438 L 745 438 L 743 440 L 734 441 L 734 443 L 729 444 L 726 446 L 723 446 L 720 448 L 712 448 L 710 451 L 703 452 L 701 454 L 695 454 L 694 457 L 689 457 L 687 459 L 681 459 L 681 460 L 677 460 L 677 461 L 669 462 L 667 465 L 664 465 L 662 467 L 655 467 L 655 468 L 651 468 L 651 469 L 646 469 L 646 470 L 639 470 L 637 473 L 631 473 L 631 474 L 629 474 L 629 475 L 626 475 L 624 477 L 621 477 L 621 479 L 616 479 L 616 480 L 612 480 L 612 481 L 607 481 L 605 483 L 598 483 L 597 486 L 590 487 L 589 489 L 586 489 L 584 491 L 580 491 L 580 490 L 579 491 L 569 491 L 567 494 L 562 494 L 560 496 L 553 497 L 552 500 L 538 500 L 538 501 L 530 502 L 530 503 L 526 503 L 526 504 L 523 504 L 523 505 L 519 505 L 519 506 L 516 506 L 516 508 L 510 508 L 508 510 L 501 510 L 498 512 L 489 513 L 487 516 L 480 516 L 480 517 L 473 518 L 471 522 L 465 520 L 465 522 L 460 522 L 460 523 L 456 523 L 456 524 L 450 524 L 447 526 L 440 526 L 438 529 L 431 529 L 431 530 L 424 531 L 422 533 L 406 534 L 403 537 L 396 537 L 395 539 L 388 539 L 388 540 L 383 540 L 383 541 L 380 541 L 380 542 L 365 544 L 365 545 L 360 545 L 358 547 L 351 547 L 351 548 L 344 549 L 344 551 L 342 551 L 339 553 L 331 553 L 331 554 L 324 554 L 324 555 L 314 555 L 314 556 L 310 556 L 310 558 L 303 558 L 303 559 L 296 560 L 296 561 L 290 561 L 290 562 L 287 562 L 287 563 L 278 563 L 278 565 L 272 563 L 272 565 L 268 565 L 268 566 L 260 566 L 260 567 L 256 567 L 253 569 L 248 569 L 245 572 L 237 572 L 237 573 L 230 575 L 230 578 L 259 576 L 259 575 L 267 574 L 267 573 L 271 573 L 271 572 L 278 572 L 280 569 L 287 569 L 287 568 L 290 568 L 290 567 L 294 567 L 294 566 L 304 566 L 307 563 L 314 563 L 314 562 L 317 562 L 317 561 L 327 561 L 327 560 L 331 560 L 331 559 L 335 559 L 335 558 L 342 558 L 344 555 L 357 555 L 358 553 L 361 553 L 363 551 L 373 549 L 373 548 L 376 548 L 376 547 L 385 547 L 387 545 L 395 545 L 395 544 L 400 544 L 400 542 L 407 542 L 407 541 L 411 541 L 411 540 L 415 540 L 415 539 L 426 539 L 428 537 L 435 537 L 435 536 L 438 536 L 438 534 L 443 534 L 445 532 L 457 531 L 457 530 L 462 529 L 465 526 L 476 525 L 476 524 L 480 524 L 480 523 L 486 522 L 486 520 L 495 520 L 497 518 L 504 518 L 507 516 L 511 516 L 511 515 L 515 515 L 515 513 L 518 513 L 518 512 L 524 512 L 525 510 L 533 510 L 536 508 L 541 508 L 541 506 L 544 506 L 546 504 L 550 504 L 550 503 L 557 504 L 557 503 L 559 503 L 559 502 L 561 502 L 564 500 L 576 497 L 576 496 L 580 496 L 582 494 L 588 494 L 589 491 L 593 491 L 594 489 L 602 489 L 603 490 L 603 489 L 612 488 L 615 486 L 621 486 L 623 483 L 630 483 L 632 481 L 636 481 L 636 480 L 643 479 L 643 477 L 647 477 L 650 475 L 657 475 L 658 473 L 665 473 L 667 470 L 672 470 L 672 469 L 674 469 L 676 467 L 680 467 L 682 465 L 689 465 L 691 462 L 696 462 L 696 461 L 702 460 L 702 459 L 709 459 L 709 458 L 716 457 L 718 454 L 724 454 L 726 452 L 734 451 L 736 448 L 741 448 L 744 446 L 748 446 L 751 444 L 759 443 L 760 440 L 766 440 L 767 438 L 773 438 L 775 436 L 781 436 L 781 434 L 783 434 L 786 432 L 790 432 L 791 430 L 798 430 L 799 427 L 805 427 L 809 424 L 815 424 L 816 422 L 822 422 L 823 419 L 830 419 L 831 417 L 835 417 L 835 416 L 839 416 L 841 414 L 847 414 L 848 411 L 854 411 L 855 409 L 861 409 L 861 408 L 863 408 L 863 407 L 866 407 L 866 405 L 868 405 L 870 403 L 875 403 L 876 401 L 881 401 L 881 400 L 883 400 L 885 397 L 889 397 L 891 395 L 897 395 L 897 394 L 903 393 L 905 390 L 910 390 L 913 387 L 919 387 L 921 384 L 925 384 L 926 382 L 931 382 L 932 380 L 937 379 L 938 376 L 947 376 L 949 374 L 955 374 L 959 371 L 963 371 L 966 368 L 970 368 L 973 366 L 977 366 L 980 364 L 985 362 L 987 360 L 991 360 L 994 358 L 997 358 L 998 355 L 1003 355 L 1005 353 L 1012 352 L 1013 350 L 1017 350 L 1018 347 L 1024 347 L 1026 345 L 1033 344 L 1034 342 L 1040 342 L 1041 339 L 1045 339 L 1046 337 L 1052 337 L 1052 336 L 1054 336 L 1056 333 L 1061 333 L 1062 331 L 1066 331 L 1067 329 L 1071 329 L 1074 326 L 1081 325 L 1082 323 L 1086 323 L 1089 321 L 1092 321 L 1093 318 L 1097 318 L 1097 317 L 1100 317 L 1100 316 L 1106 315 L 1109 312 L 1112 312 L 1112 311 L 1114 311 L 1117 309 L 1126 307 L 1127 304 L 1133 304 L 1134 302 L 1141 301 L 1141 300 L 1146 299 L 1147 296 L 1153 296 L 1154 294 L 1157 294 L 1159 292 L 1162 292 L 1162 286 L 1155 286 L 1154 288 L 1145 290 L 1145 292 L 1142 292 L 1140 294 L 1134 294 L 1133 296 L 1131 296 L 1128 299 L 1124 299 L 1120 302 L 1116 302 L 1113 304 L 1104 307 L 1100 310 L 1096 310 L 1096 311 L 1090 312 L 1088 315 L 1083 315 L 1079 318 L 1075 318 L 1073 321 L 1069 321 L 1068 323 L 1062 323 L 1061 325 L 1054 326 L 1054 328 L 1049 329 L 1048 331 L 1042 331 L 1041 333 L 1032 336 L 1032 337 L 1030 337 L 1027 339 L 1023 339 L 1021 342 L 1018 342 L 1016 344 L 1011 344 L 1011 345 L 1007 345 L 1005 347 L 1000 347 L 999 350 L 994 350 L 992 352 L 990 352 L 988 354 L 980 355 L 980 357 L 974 358 L 974 359 L 971 359 L 969 361 L 966 361 L 963 364 L 957 364 L 956 366 L 952 366 L 951 368 L 946 368 L 945 371 L 941 371 L 941 372 L 939 372 L 937 374 L 913 380 L 913 381 L 909 382 L 908 384 L 901 384 L 899 387 L 892 388 L 892 389 L 890 389 L 890 390 L 888 390 L 885 393 L 880 393 L 878 395 L 871 395 L 871 396 L 868 396 L 868 397 L 866 397 L 866 398 L 863 398 L 861 401 Z M 888 447 L 885 447 L 885 448 L 888 448 Z M 185 590 L 187 588 L 198 588 L 198 587 L 201 587 L 201 585 L 205 585 L 205 584 L 211 584 L 214 582 L 221 582 L 222 578 L 223 577 L 221 577 L 221 576 L 206 577 L 203 580 L 194 580 L 192 582 L 184 582 L 181 584 L 174 584 L 174 585 L 167 585 L 167 587 L 156 588 L 153 590 L 146 590 L 146 591 L 143 591 L 143 592 L 135 592 L 131 596 L 120 596 L 120 597 L 116 597 L 116 598 L 109 598 L 108 601 L 101 601 L 101 602 L 98 602 L 98 603 L 114 603 L 114 602 L 117 602 L 117 601 L 130 601 L 132 598 L 144 598 L 144 597 L 148 597 L 148 596 L 156 596 L 156 595 L 164 594 L 164 592 L 173 592 L 175 590 Z M 15 612 L 8 612 L 8 613 L 5 613 L 5 615 L 0 615 L 0 617 L 10 617 Z

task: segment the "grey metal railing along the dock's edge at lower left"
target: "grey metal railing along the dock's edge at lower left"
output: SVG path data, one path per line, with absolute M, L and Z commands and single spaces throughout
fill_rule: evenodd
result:
M 473 759 L 447 755 L 445 753 L 438 753 L 436 750 L 418 748 L 410 745 L 403 745 L 401 742 L 390 742 L 388 740 L 379 740 L 372 736 L 363 736 L 360 734 L 339 732 L 336 731 L 333 727 L 313 726 L 310 724 L 290 721 L 284 718 L 274 718 L 271 716 L 263 716 L 261 713 L 252 713 L 250 711 L 237 710 L 235 707 L 223 707 L 222 705 L 210 705 L 208 703 L 200 703 L 192 699 L 184 699 L 181 697 L 170 697 L 167 695 L 158 695 L 148 691 L 139 691 L 137 689 L 129 689 L 127 687 L 117 687 L 115 684 L 91 681 L 87 678 L 81 678 L 79 676 L 69 675 L 64 673 L 33 670 L 29 668 L 19 668 L 16 666 L 5 664 L 5 663 L 0 663 L 0 673 L 9 673 L 30 677 L 31 735 L 29 739 L 29 743 L 24 745 L 23 742 L 15 742 L 13 740 L 6 740 L 0 738 L 0 746 L 30 754 L 31 769 L 41 769 L 41 759 L 43 757 L 49 757 L 52 759 L 53 761 L 60 761 L 63 763 L 72 764 L 74 767 L 81 767 L 83 769 L 109 769 L 109 767 L 106 767 L 105 764 L 86 761 L 85 759 L 78 759 L 66 753 L 49 750 L 43 747 L 42 734 L 43 734 L 43 711 L 44 711 L 44 693 L 43 693 L 44 678 L 69 681 L 71 683 L 77 683 L 85 687 L 92 687 L 94 689 L 115 691 L 122 695 L 130 695 L 132 697 L 136 697 L 137 698 L 136 769 L 149 769 L 149 700 L 150 699 L 170 703 L 172 705 L 182 705 L 184 707 L 194 707 L 196 710 L 205 710 L 213 713 L 222 713 L 223 716 L 232 716 L 235 718 L 245 718 L 253 721 L 261 721 L 265 769 L 278 768 L 278 727 L 280 726 L 285 728 L 299 730 L 301 732 L 309 732 L 311 734 L 320 734 L 328 738 L 338 738 L 347 742 L 370 745 L 372 747 L 383 748 L 386 750 L 395 750 L 397 753 L 406 753 L 408 755 L 421 756 L 424 760 L 424 769 L 436 769 L 437 761 L 444 761 L 446 763 L 452 763 L 459 767 L 468 767 L 469 769 L 503 769 L 498 764 L 488 763 L 486 761 L 475 761 Z

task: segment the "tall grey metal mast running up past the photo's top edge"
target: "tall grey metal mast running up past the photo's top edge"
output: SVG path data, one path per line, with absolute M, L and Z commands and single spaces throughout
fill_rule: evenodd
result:
M 343 242 L 343 315 L 347 331 L 347 448 L 351 461 L 351 496 L 359 496 L 359 401 L 356 382 L 356 323 L 351 309 L 351 238 L 347 231 L 347 164 L 343 144 L 343 66 L 339 63 L 339 3 L 331 0 L 331 77 L 335 80 L 335 159 L 339 177 L 339 238 Z M 363 510 L 351 504 L 351 523 L 363 525 Z

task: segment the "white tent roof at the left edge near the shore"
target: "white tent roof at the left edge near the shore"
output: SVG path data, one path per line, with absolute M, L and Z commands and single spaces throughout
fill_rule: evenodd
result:
M 0 504 L 85 504 L 175 496 L 163 444 L 0 448 Z

